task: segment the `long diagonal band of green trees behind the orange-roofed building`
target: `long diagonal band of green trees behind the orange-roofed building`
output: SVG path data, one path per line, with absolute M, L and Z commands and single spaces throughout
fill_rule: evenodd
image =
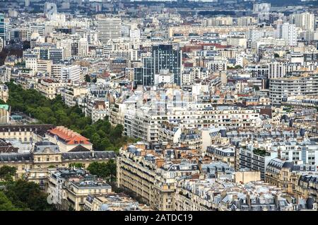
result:
M 107 117 L 93 123 L 77 105 L 65 105 L 61 96 L 50 100 L 40 92 L 34 89 L 24 90 L 12 81 L 6 85 L 9 89 L 7 104 L 11 105 L 12 112 L 23 112 L 41 123 L 69 127 L 90 139 L 93 149 L 97 151 L 118 151 L 123 144 L 134 142 L 134 139 L 122 135 L 122 125 L 113 127 Z

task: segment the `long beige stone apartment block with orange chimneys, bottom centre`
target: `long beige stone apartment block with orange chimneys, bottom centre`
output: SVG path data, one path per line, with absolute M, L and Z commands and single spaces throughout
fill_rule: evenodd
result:
M 197 174 L 199 167 L 174 160 L 177 156 L 168 152 L 165 159 L 163 150 L 149 149 L 142 142 L 124 146 L 117 157 L 118 187 L 133 191 L 156 210 L 174 210 L 175 179 Z

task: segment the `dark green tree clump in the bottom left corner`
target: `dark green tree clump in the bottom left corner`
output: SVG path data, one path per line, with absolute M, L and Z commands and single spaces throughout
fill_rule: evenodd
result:
M 19 179 L 13 181 L 16 168 L 2 166 L 0 168 L 1 183 L 0 211 L 47 211 L 54 210 L 52 204 L 47 203 L 47 194 L 34 182 Z M 11 179 L 8 179 L 11 177 Z

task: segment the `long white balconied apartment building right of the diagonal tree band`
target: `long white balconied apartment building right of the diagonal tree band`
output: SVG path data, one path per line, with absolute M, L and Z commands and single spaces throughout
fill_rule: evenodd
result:
M 156 113 L 150 108 L 133 108 L 124 115 L 124 134 L 147 142 L 158 142 L 158 129 L 163 122 L 183 127 L 258 127 L 259 110 L 198 104 L 192 108 L 176 108 L 167 113 Z

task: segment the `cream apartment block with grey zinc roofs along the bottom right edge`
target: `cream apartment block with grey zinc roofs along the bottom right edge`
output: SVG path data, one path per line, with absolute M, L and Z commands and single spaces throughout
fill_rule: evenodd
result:
M 261 190 L 261 192 L 259 192 Z M 184 179 L 177 185 L 175 208 L 179 211 L 293 211 L 312 209 L 273 185 L 247 185 L 220 179 Z

